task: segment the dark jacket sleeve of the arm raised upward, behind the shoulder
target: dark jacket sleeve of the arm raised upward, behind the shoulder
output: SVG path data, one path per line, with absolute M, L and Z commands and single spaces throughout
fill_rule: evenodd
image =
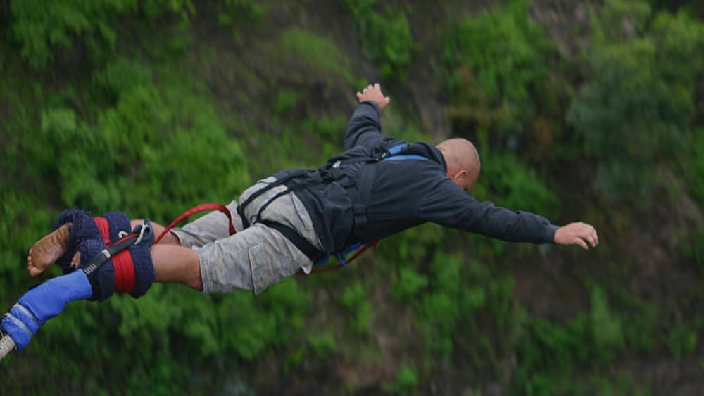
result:
M 375 101 L 364 101 L 357 106 L 347 124 L 344 146 L 379 146 L 391 138 L 382 135 L 381 110 Z

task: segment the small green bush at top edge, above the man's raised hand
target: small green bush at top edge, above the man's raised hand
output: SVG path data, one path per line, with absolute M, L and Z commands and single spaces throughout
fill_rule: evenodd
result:
M 346 0 L 346 5 L 365 57 L 377 64 L 385 81 L 406 83 L 416 45 L 405 11 L 390 6 L 378 11 L 375 0 Z

